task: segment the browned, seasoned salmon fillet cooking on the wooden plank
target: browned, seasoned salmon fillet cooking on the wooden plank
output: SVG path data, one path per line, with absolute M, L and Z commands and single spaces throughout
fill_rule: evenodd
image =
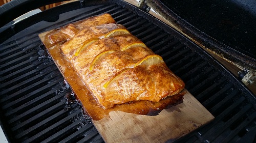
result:
M 61 30 L 60 37 L 70 37 L 61 50 L 102 108 L 140 100 L 158 102 L 182 92 L 184 82 L 138 38 L 131 33 L 106 37 L 115 30 L 126 30 L 123 25 L 89 19 Z M 154 56 L 160 62 L 143 64 Z

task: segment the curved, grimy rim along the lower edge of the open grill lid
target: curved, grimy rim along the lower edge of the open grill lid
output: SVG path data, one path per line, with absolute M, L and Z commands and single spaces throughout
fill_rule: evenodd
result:
M 158 0 L 145 0 L 145 4 L 150 6 L 158 14 L 160 14 L 162 18 L 171 23 L 172 25 L 170 26 L 175 28 L 175 30 L 182 33 L 203 49 L 218 55 L 220 58 L 226 60 L 232 65 L 237 66 L 239 69 L 245 72 L 250 72 L 256 76 L 255 59 L 230 48 L 229 46 L 198 30 L 196 27 L 179 17 L 176 13 L 167 8 Z

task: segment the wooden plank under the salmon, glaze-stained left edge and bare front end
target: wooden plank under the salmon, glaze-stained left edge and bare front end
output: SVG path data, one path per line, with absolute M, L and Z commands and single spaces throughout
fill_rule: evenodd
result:
M 45 36 L 49 32 L 39 35 L 41 41 L 45 41 Z M 74 74 L 76 71 L 62 54 L 60 45 L 46 48 L 63 77 L 71 85 L 76 98 L 92 117 L 93 124 L 105 142 L 173 142 L 214 119 L 214 116 L 188 91 L 184 95 L 183 103 L 163 109 L 156 116 L 104 110 L 97 105 L 79 76 Z M 94 120 L 96 118 L 93 115 L 99 111 L 97 108 L 105 114 L 103 119 Z

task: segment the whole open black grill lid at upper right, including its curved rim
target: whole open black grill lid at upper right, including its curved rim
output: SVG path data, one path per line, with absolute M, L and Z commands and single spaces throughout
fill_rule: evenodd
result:
M 255 2 L 147 0 L 174 27 L 210 52 L 256 75 Z M 248 5 L 247 5 L 248 4 Z M 247 7 L 250 6 L 250 10 Z

